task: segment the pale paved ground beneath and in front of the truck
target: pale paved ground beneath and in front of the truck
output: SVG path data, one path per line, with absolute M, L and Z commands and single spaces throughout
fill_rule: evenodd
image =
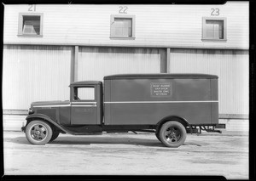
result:
M 166 148 L 154 133 L 61 134 L 32 145 L 25 133 L 4 132 L 5 175 L 221 175 L 248 178 L 247 133 L 188 134 Z

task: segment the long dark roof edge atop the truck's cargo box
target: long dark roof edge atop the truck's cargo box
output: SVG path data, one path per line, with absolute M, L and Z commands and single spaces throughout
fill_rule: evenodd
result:
M 159 79 L 159 78 L 171 78 L 171 79 L 212 79 L 218 78 L 218 76 L 210 74 L 116 74 L 112 76 L 104 76 L 104 80 L 113 80 L 113 79 Z

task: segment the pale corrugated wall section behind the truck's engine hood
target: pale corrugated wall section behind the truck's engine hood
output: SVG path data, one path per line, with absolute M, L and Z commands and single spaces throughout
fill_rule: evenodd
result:
M 69 99 L 73 48 L 4 45 L 3 109 L 26 110 L 32 101 Z

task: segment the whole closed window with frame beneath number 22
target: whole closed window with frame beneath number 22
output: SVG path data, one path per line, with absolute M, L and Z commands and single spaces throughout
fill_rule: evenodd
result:
M 111 38 L 135 38 L 135 16 L 111 15 Z

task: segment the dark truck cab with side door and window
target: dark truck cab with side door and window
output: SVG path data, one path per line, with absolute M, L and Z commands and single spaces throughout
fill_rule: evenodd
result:
M 102 124 L 102 82 L 73 82 L 70 85 L 70 124 Z

